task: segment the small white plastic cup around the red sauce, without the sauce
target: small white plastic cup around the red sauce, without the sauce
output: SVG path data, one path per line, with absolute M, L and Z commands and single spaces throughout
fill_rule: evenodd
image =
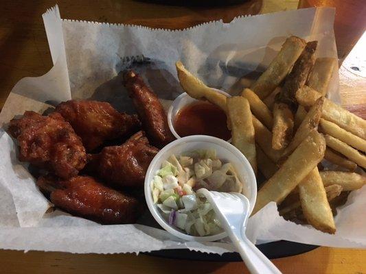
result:
M 216 90 L 217 92 L 219 92 L 227 97 L 231 97 L 231 95 L 229 95 L 229 93 L 227 93 L 225 91 L 218 90 L 216 88 L 214 88 L 214 90 Z M 179 136 L 179 134 L 174 129 L 174 121 L 175 121 L 176 115 L 186 105 L 190 105 L 191 103 L 198 102 L 198 101 L 199 100 L 190 97 L 190 95 L 188 95 L 187 92 L 183 92 L 181 95 L 179 95 L 179 97 L 176 97 L 176 99 L 174 99 L 172 105 L 170 105 L 170 108 L 168 110 L 168 125 L 170 128 L 170 131 L 172 132 L 172 134 L 174 135 L 175 138 L 177 138 L 177 139 L 182 138 L 181 136 Z M 227 140 L 227 142 L 231 142 L 231 138 L 229 140 Z

